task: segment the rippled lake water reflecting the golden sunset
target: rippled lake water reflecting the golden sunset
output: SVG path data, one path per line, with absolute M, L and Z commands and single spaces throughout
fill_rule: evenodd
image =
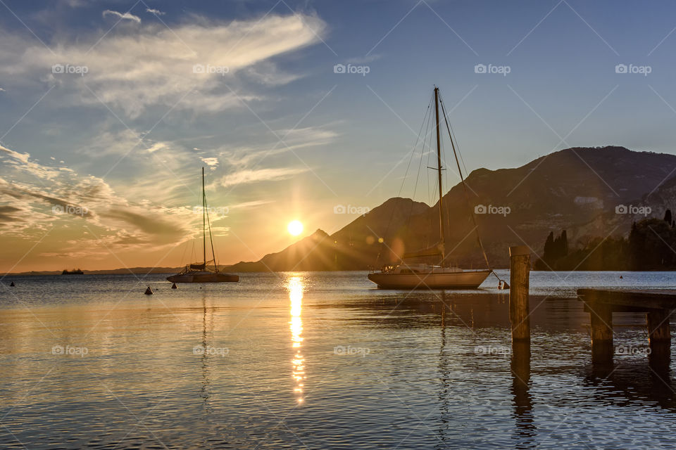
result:
M 675 273 L 533 272 L 530 364 L 511 354 L 494 277 L 408 293 L 360 272 L 241 275 L 177 290 L 159 275 L 4 278 L 0 447 L 676 446 L 676 380 L 649 364 L 644 316 L 615 315 L 600 368 L 575 299 L 673 288 Z

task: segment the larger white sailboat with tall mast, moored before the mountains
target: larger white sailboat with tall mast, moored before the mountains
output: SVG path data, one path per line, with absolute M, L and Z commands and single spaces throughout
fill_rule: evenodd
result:
M 380 271 L 368 274 L 368 279 L 373 281 L 373 283 L 376 283 L 378 288 L 381 289 L 476 289 L 490 274 L 492 274 L 491 269 L 470 270 L 445 265 L 444 193 L 442 191 L 443 167 L 441 136 L 439 135 L 439 88 L 437 86 L 434 86 L 434 112 L 437 119 L 437 167 L 434 167 L 434 169 L 437 170 L 439 179 L 439 243 L 433 245 L 431 248 L 405 253 L 399 264 L 384 266 Z M 446 120 L 445 110 L 444 120 Z M 448 127 L 447 121 L 446 126 Z M 451 131 L 449 129 L 449 137 L 450 135 Z M 453 139 L 451 139 L 451 145 L 453 146 L 453 153 L 455 154 Z M 422 257 L 438 257 L 440 263 L 439 265 L 430 265 L 406 262 L 407 259 L 410 260 Z

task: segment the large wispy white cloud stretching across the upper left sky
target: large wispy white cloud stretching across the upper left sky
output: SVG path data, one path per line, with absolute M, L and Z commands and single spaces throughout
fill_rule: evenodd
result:
M 0 75 L 16 84 L 57 85 L 60 105 L 104 108 L 102 101 L 131 118 L 154 105 L 215 113 L 263 98 L 239 87 L 252 83 L 248 68 L 258 83 L 295 79 L 277 74 L 270 59 L 315 44 L 325 29 L 323 20 L 312 15 L 270 14 L 230 23 L 189 20 L 171 30 L 157 23 L 115 28 L 100 41 L 99 34 L 80 33 L 77 39 L 50 42 L 50 49 L 23 36 L 7 37 L 0 49 Z M 56 64 L 87 72 L 52 73 Z

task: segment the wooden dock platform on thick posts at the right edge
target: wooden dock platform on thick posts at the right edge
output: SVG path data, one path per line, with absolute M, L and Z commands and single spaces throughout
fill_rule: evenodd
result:
M 669 318 L 676 311 L 676 289 L 578 289 L 577 297 L 584 302 L 584 311 L 591 317 L 592 345 L 613 342 L 613 312 L 646 313 L 651 347 L 669 347 Z

